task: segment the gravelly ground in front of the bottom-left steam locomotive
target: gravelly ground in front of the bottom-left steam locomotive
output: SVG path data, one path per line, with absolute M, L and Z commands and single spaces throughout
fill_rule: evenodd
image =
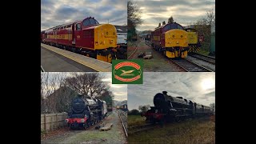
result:
M 113 126 L 110 130 L 70 130 L 65 134 L 59 134 L 51 138 L 41 141 L 41 143 L 79 143 L 79 144 L 99 144 L 99 143 L 113 143 L 122 144 L 127 143 L 125 134 L 122 130 L 122 124 L 118 118 L 118 114 L 110 114 L 104 123 L 111 122 Z

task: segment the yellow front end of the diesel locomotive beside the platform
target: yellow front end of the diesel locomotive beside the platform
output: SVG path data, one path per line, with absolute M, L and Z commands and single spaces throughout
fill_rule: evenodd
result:
M 115 26 L 110 24 L 98 25 L 94 29 L 94 49 L 97 51 L 97 59 L 104 62 L 112 62 L 116 58 L 118 34 Z

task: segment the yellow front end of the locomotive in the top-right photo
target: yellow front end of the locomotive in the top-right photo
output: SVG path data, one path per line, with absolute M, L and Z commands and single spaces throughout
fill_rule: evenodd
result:
M 185 30 L 169 30 L 165 33 L 166 57 L 186 58 L 188 45 L 188 34 Z

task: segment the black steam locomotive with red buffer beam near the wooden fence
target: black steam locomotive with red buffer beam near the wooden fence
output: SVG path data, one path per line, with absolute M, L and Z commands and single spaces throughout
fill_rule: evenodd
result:
M 66 123 L 71 129 L 86 129 L 102 121 L 107 114 L 106 102 L 96 98 L 82 98 L 78 95 L 71 104 Z

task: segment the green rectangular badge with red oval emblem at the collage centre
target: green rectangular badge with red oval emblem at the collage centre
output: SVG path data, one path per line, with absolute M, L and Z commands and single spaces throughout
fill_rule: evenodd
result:
M 142 84 L 143 61 L 112 60 L 112 84 Z

